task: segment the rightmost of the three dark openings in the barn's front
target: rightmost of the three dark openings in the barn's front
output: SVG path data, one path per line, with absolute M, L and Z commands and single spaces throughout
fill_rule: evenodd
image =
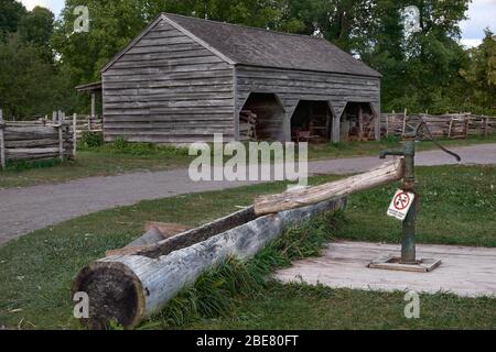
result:
M 341 141 L 375 141 L 376 119 L 369 102 L 348 102 L 341 121 Z

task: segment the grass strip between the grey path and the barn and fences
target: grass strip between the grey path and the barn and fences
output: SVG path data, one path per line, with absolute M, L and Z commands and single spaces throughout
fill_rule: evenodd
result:
M 486 139 L 443 141 L 446 146 L 466 146 L 496 142 L 496 134 Z M 397 140 L 382 142 L 351 142 L 311 145 L 310 160 L 326 160 L 379 155 L 384 148 L 399 146 Z M 422 142 L 419 150 L 435 148 L 431 142 Z M 90 176 L 114 176 L 140 170 L 164 170 L 187 167 L 193 158 L 187 150 L 152 147 L 148 145 L 105 145 L 79 151 L 77 160 L 63 164 L 37 165 L 39 167 L 15 167 L 0 170 L 0 188 L 25 187 L 40 184 L 55 184 Z

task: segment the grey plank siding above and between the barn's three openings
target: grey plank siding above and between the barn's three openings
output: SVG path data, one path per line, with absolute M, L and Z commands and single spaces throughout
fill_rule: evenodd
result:
M 274 94 L 285 110 L 282 119 L 287 140 L 300 100 L 328 101 L 334 114 L 334 140 L 339 138 L 339 121 L 348 101 L 369 102 L 380 116 L 380 79 L 376 77 L 237 66 L 236 80 L 236 116 L 250 92 Z

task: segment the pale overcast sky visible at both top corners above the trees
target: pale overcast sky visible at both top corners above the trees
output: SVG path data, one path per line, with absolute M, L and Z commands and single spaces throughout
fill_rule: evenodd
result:
M 31 10 L 35 6 L 51 9 L 57 15 L 64 8 L 64 0 L 21 0 Z M 462 43 L 467 46 L 481 44 L 484 29 L 496 32 L 496 0 L 473 0 L 468 10 L 468 20 L 461 23 Z

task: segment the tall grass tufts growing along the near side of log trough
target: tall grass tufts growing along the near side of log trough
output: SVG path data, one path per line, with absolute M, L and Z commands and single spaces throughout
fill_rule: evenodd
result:
M 139 329 L 170 329 L 197 319 L 229 317 L 239 299 L 255 298 L 267 287 L 268 275 L 274 270 L 295 260 L 319 256 L 343 221 L 342 212 L 327 212 L 289 229 L 247 263 L 227 258 L 202 274 L 191 288 Z

